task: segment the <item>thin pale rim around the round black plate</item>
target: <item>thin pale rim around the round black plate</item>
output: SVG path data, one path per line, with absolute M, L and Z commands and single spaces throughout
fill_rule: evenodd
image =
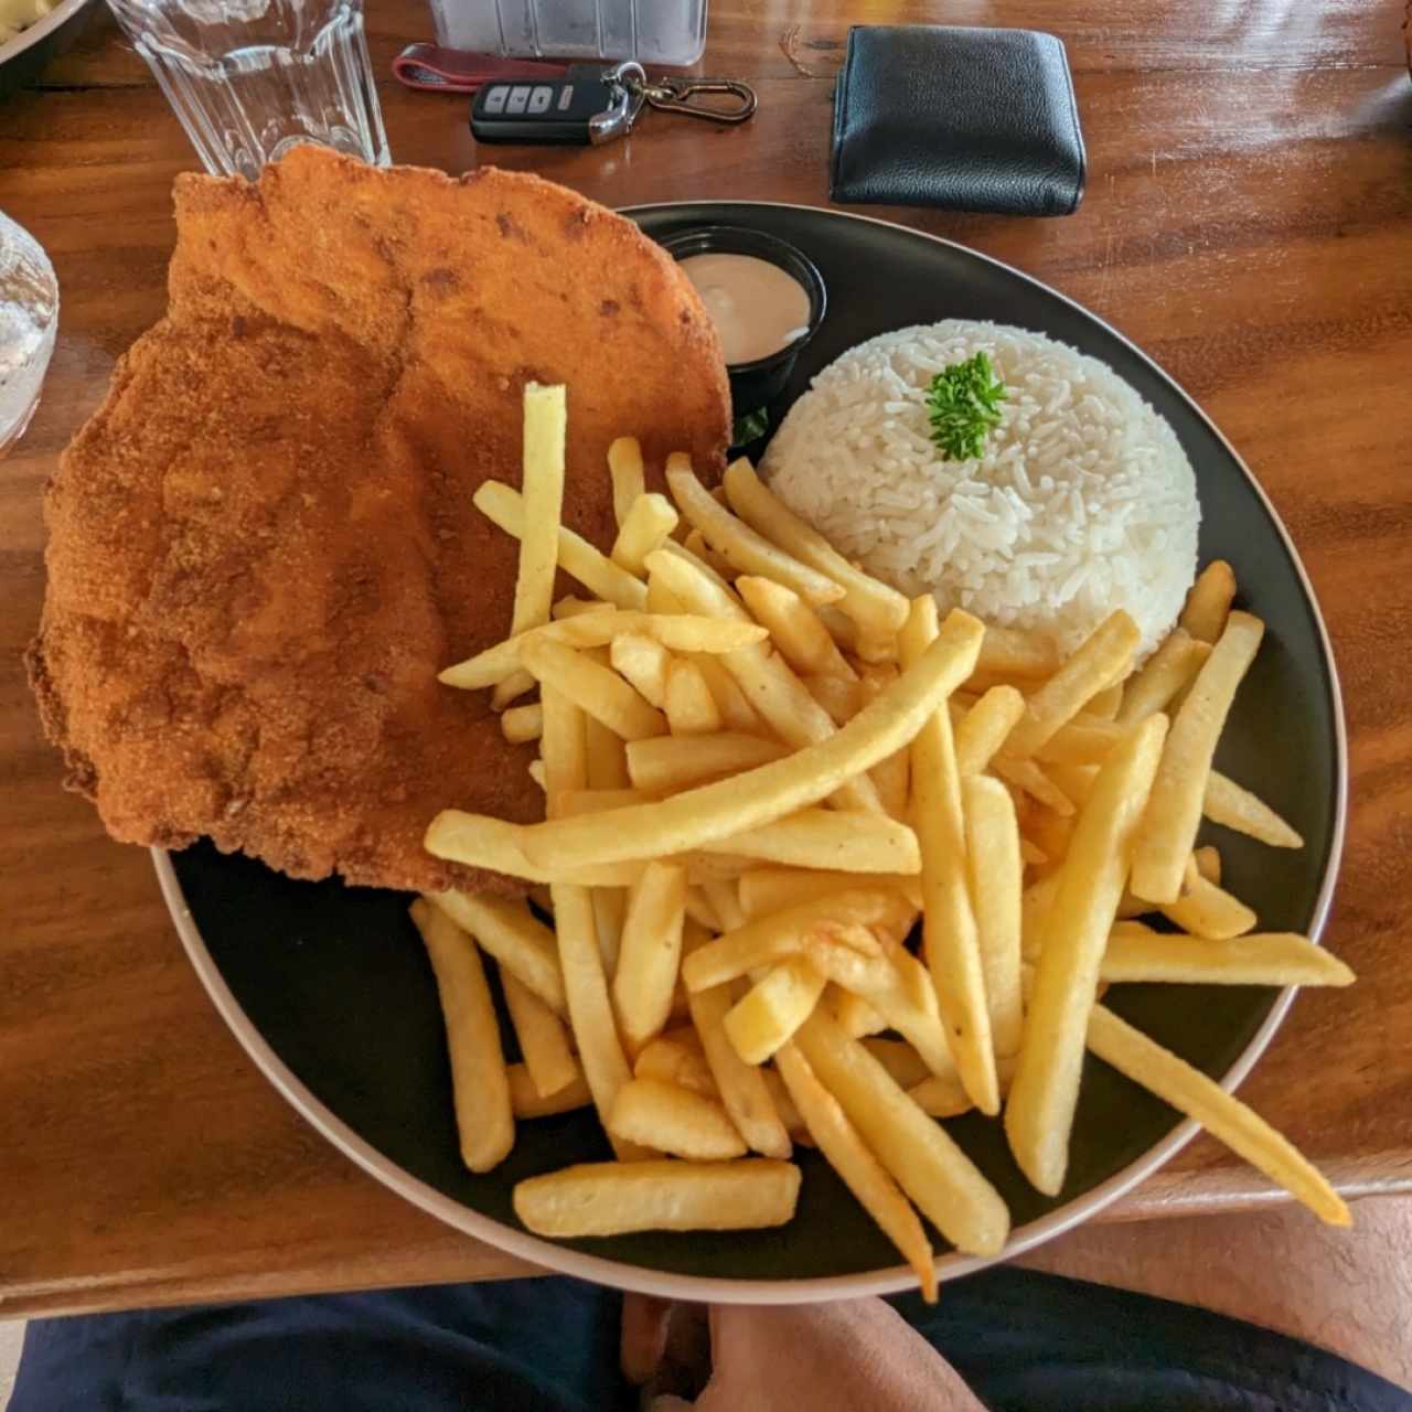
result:
M 69 0 L 69 3 L 72 3 L 72 0 Z M 78 3 L 82 3 L 82 0 L 78 0 Z M 1333 890 L 1339 875 L 1339 866 L 1343 861 L 1344 827 L 1348 810 L 1348 741 L 1343 716 L 1343 690 L 1339 683 L 1339 671 L 1334 664 L 1333 644 L 1329 640 L 1329 630 L 1324 624 L 1323 613 L 1319 609 L 1319 599 L 1315 594 L 1313 585 L 1309 582 L 1309 575 L 1305 570 L 1303 561 L 1299 558 L 1299 552 L 1289 537 L 1289 531 L 1285 528 L 1285 522 L 1279 518 L 1279 513 L 1275 510 L 1274 504 L 1271 504 L 1264 487 L 1251 473 L 1244 459 L 1226 439 L 1220 428 L 1206 415 L 1204 411 L 1202 411 L 1196 400 L 1173 377 L 1159 367 L 1158 363 L 1148 357 L 1148 354 L 1144 353 L 1142 349 L 1139 349 L 1131 339 L 1121 335 L 1106 319 L 1100 319 L 1076 299 L 1070 299 L 1067 295 L 1051 288 L 1043 281 L 1025 274 L 1022 270 L 1014 268 L 1014 265 L 1005 264 L 1003 260 L 995 260 L 991 256 L 981 254 L 979 250 L 971 250 L 970 247 L 962 246 L 955 240 L 947 240 L 943 236 L 933 236 L 923 230 L 912 230 L 908 226 L 899 226 L 895 222 L 881 220 L 877 216 L 860 216 L 847 210 L 830 210 L 823 206 L 801 206 L 798 203 L 781 201 L 652 202 L 641 206 L 624 206 L 620 210 L 620 215 L 631 216 L 654 210 L 675 210 L 683 206 L 764 206 L 778 210 L 816 210 L 822 215 L 840 220 L 861 220 L 867 225 L 884 226 L 888 230 L 901 230 L 922 240 L 932 240 L 939 246 L 959 250 L 971 258 L 984 260 L 987 264 L 1004 270 L 1007 274 L 1022 280 L 1025 284 L 1035 285 L 1045 294 L 1062 299 L 1086 318 L 1093 319 L 1120 343 L 1131 349 L 1132 353 L 1135 353 L 1154 373 L 1156 373 L 1158 377 L 1171 384 L 1178 395 L 1180 395 L 1183 401 L 1186 401 L 1186 404 L 1196 412 L 1196 415 L 1200 417 L 1200 419 L 1226 448 L 1236 465 L 1240 466 L 1241 473 L 1260 497 L 1267 514 L 1275 525 L 1275 531 L 1279 534 L 1285 548 L 1289 551 L 1289 556 L 1295 565 L 1295 572 L 1299 575 L 1300 586 L 1305 590 L 1305 597 L 1308 599 L 1309 607 L 1313 613 L 1313 620 L 1319 630 L 1319 641 L 1323 647 L 1324 662 L 1329 668 L 1329 683 L 1333 696 L 1334 760 L 1337 765 L 1339 785 L 1337 798 L 1334 801 L 1334 822 L 1333 837 L 1329 847 L 1329 863 L 1324 867 L 1323 882 L 1320 884 L 1319 895 L 1315 901 L 1313 919 L 1309 928 L 1310 938 L 1316 942 L 1320 940 L 1324 923 L 1329 919 L 1329 909 L 1333 904 Z M 325 1107 L 323 1103 L 321 1103 L 304 1086 L 304 1083 L 295 1077 L 284 1060 L 280 1059 L 280 1056 L 270 1048 L 264 1036 L 254 1028 L 246 1012 L 240 1008 L 240 1004 L 236 1001 L 236 997 L 226 986 L 225 977 L 220 974 L 210 952 L 206 949 L 206 943 L 196 928 L 191 909 L 186 907 L 186 899 L 182 894 L 181 884 L 176 881 L 176 873 L 172 868 L 171 857 L 167 850 L 152 849 L 151 853 L 152 864 L 157 870 L 157 878 L 161 884 L 162 898 L 171 912 L 172 922 L 176 926 L 182 945 L 186 947 L 186 955 L 191 957 L 192 966 L 201 977 L 202 984 L 206 987 L 216 1010 L 230 1027 L 236 1039 L 239 1039 L 244 1046 L 246 1053 L 250 1055 L 250 1058 L 256 1062 L 256 1066 L 265 1075 L 274 1087 L 284 1094 L 294 1108 L 313 1128 L 323 1134 L 329 1142 L 332 1142 L 346 1156 L 352 1158 L 370 1176 L 397 1192 L 398 1196 L 405 1197 L 414 1206 L 421 1207 L 429 1216 L 435 1216 L 438 1220 L 445 1221 L 448 1226 L 453 1226 L 456 1230 L 465 1231 L 467 1236 L 474 1236 L 477 1240 L 483 1240 L 487 1245 L 494 1245 L 497 1250 L 503 1250 L 510 1255 L 517 1255 L 520 1260 L 530 1261 L 531 1264 L 542 1265 L 561 1275 L 572 1275 L 576 1279 L 587 1279 L 594 1284 L 611 1285 L 617 1289 L 631 1289 L 644 1295 L 658 1295 L 666 1299 L 688 1299 L 705 1303 L 795 1305 L 816 1303 L 829 1299 L 858 1299 L 864 1295 L 892 1295 L 916 1286 L 916 1276 L 907 1265 L 895 1265 L 888 1269 L 864 1271 L 856 1275 L 820 1275 L 808 1279 L 724 1279 L 720 1276 L 675 1275 L 666 1271 L 654 1271 L 645 1269 L 640 1265 L 630 1265 L 617 1260 L 610 1260 L 604 1255 L 585 1255 L 582 1251 L 570 1250 L 565 1245 L 555 1245 L 551 1241 L 541 1240 L 537 1236 L 530 1236 L 525 1231 L 514 1230 L 510 1226 L 491 1220 L 489 1216 L 481 1216 L 479 1211 L 474 1211 L 467 1206 L 462 1206 L 460 1202 L 453 1200 L 445 1193 L 436 1190 L 433 1186 L 429 1186 L 428 1183 L 412 1176 L 395 1162 L 388 1161 L 388 1158 L 359 1137 L 346 1123 L 343 1123 L 342 1118 L 336 1117 L 328 1107 Z M 1254 1067 L 1255 1060 L 1260 1059 L 1268 1048 L 1275 1031 L 1284 1022 L 1285 1015 L 1289 1012 L 1289 1007 L 1293 1003 L 1293 997 L 1295 987 L 1292 986 L 1285 987 L 1279 993 L 1260 1029 L 1255 1031 L 1240 1058 L 1223 1076 L 1223 1089 L 1233 1091 L 1245 1079 Z M 1144 1152 L 1142 1156 L 1130 1162 L 1125 1168 L 1123 1168 L 1123 1171 L 1115 1172 L 1106 1182 L 1100 1182 L 1091 1190 L 1084 1192 L 1083 1196 L 1079 1196 L 1059 1207 L 1059 1210 L 1051 1211 L 1048 1216 L 1043 1216 L 1036 1221 L 1029 1221 L 1027 1226 L 1021 1226 L 1011 1231 L 1010 1240 L 1005 1243 L 1000 1254 L 980 1257 L 962 1255 L 956 1251 L 950 1251 L 936 1260 L 938 1275 L 942 1279 L 956 1279 L 962 1275 L 969 1275 L 973 1271 L 984 1269 L 987 1265 L 1000 1264 L 1014 1255 L 1022 1254 L 1027 1250 L 1034 1250 L 1036 1245 L 1042 1245 L 1045 1241 L 1053 1240 L 1056 1236 L 1062 1236 L 1067 1230 L 1073 1230 L 1076 1226 L 1080 1226 L 1086 1220 L 1096 1216 L 1106 1206 L 1111 1206 L 1115 1200 L 1118 1200 L 1118 1197 L 1125 1196 L 1132 1190 L 1132 1187 L 1135 1187 L 1139 1182 L 1144 1182 L 1159 1168 L 1165 1166 L 1166 1162 L 1180 1152 L 1180 1149 L 1186 1147 L 1186 1144 L 1190 1142 L 1199 1131 L 1200 1125 L 1192 1118 L 1182 1120 L 1165 1138 L 1162 1138 L 1161 1142 Z

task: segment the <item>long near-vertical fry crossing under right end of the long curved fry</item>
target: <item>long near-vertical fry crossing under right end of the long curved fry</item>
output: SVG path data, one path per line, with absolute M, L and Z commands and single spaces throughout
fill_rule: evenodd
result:
M 912 669 L 936 635 L 936 600 L 931 594 L 914 599 L 912 611 L 898 634 L 902 666 Z M 950 712 L 945 703 L 912 740 L 912 796 L 922 847 L 926 962 L 946 1022 L 946 1042 L 976 1107 L 995 1114 L 1000 1111 L 995 1048 L 986 1005 L 976 914 L 966 877 L 960 771 Z

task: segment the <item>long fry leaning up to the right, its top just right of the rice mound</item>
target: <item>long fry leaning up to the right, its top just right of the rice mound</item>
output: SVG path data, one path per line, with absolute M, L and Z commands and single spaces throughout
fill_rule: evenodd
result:
M 1138 897 L 1175 902 L 1180 894 L 1182 874 L 1202 822 L 1216 743 L 1264 634 L 1260 618 L 1231 613 L 1172 722 L 1132 854 L 1131 888 Z

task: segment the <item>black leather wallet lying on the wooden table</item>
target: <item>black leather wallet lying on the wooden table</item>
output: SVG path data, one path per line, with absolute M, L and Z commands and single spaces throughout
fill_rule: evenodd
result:
M 1066 216 L 1083 171 L 1073 79 L 1052 34 L 849 31 L 833 95 L 834 201 Z

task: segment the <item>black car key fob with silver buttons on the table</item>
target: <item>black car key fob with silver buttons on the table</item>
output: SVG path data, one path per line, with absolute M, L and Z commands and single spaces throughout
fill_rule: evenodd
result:
M 477 143 L 597 145 L 623 137 L 642 107 L 640 86 L 621 82 L 635 64 L 573 64 L 563 78 L 496 79 L 470 104 Z

